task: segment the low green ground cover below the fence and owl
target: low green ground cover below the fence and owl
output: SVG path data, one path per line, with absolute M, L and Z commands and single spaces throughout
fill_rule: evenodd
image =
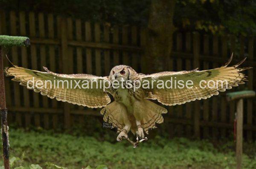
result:
M 102 140 L 102 139 L 101 139 Z M 213 145 L 207 140 L 167 139 L 156 136 L 134 149 L 122 143 L 101 141 L 90 136 L 73 136 L 50 131 L 10 131 L 11 156 L 22 160 L 15 166 L 46 162 L 69 169 L 101 164 L 108 169 L 233 169 L 234 143 Z M 104 139 L 103 139 L 104 140 Z M 244 169 L 256 168 L 256 143 L 245 145 Z M 1 150 L 2 151 L 2 150 Z M 0 161 L 0 166 L 2 165 Z

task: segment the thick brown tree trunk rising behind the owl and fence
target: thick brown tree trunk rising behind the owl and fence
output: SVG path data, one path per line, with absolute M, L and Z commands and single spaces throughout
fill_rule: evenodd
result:
M 149 72 L 170 70 L 175 0 L 152 0 L 145 56 Z

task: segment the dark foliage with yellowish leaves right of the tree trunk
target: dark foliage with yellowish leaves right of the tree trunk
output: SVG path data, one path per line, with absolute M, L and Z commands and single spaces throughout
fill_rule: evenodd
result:
M 218 34 L 256 34 L 254 0 L 177 0 L 174 22 L 179 29 Z

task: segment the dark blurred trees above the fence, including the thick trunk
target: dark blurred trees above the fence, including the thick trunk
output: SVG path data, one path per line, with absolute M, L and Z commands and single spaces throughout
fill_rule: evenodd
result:
M 256 34 L 254 0 L 0 0 L 5 10 L 48 12 L 109 25 L 148 28 L 147 63 L 163 71 L 172 51 L 172 34 Z M 162 66 L 165 65 L 165 66 Z

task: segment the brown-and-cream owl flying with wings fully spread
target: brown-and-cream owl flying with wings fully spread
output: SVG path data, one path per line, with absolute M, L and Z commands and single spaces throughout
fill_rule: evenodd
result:
M 41 95 L 51 99 L 56 98 L 59 101 L 89 108 L 103 107 L 100 111 L 103 120 L 117 128 L 116 140 L 122 141 L 122 139 L 128 138 L 130 131 L 143 139 L 149 129 L 157 127 L 156 123 L 163 123 L 162 114 L 167 113 L 167 110 L 150 100 L 157 100 L 167 106 L 175 106 L 194 100 L 207 99 L 226 89 L 231 89 L 233 86 L 243 84 L 246 76 L 240 72 L 250 69 L 250 67 L 238 68 L 245 59 L 234 66 L 228 66 L 231 60 L 232 56 L 224 66 L 203 71 L 194 69 L 142 74 L 137 73 L 131 66 L 119 65 L 111 69 L 109 76 L 99 77 L 91 74 L 58 74 L 45 67 L 46 72 L 40 72 L 13 65 L 5 69 L 5 74 L 14 76 L 12 80 L 20 82 L 20 85 L 40 92 Z M 170 82 L 168 81 L 170 79 L 182 80 L 190 82 L 190 84 L 193 82 L 193 86 L 162 87 L 156 83 L 160 81 L 162 84 L 166 84 Z M 64 82 L 56 87 L 55 84 L 52 84 L 55 80 Z M 214 85 L 215 80 L 224 80 L 227 83 L 224 86 Z M 39 81 L 41 87 L 35 86 L 34 83 Z M 72 81 L 76 83 L 66 83 Z M 84 85 L 84 81 L 87 82 L 87 86 L 81 87 Z M 119 87 L 114 86 L 113 83 L 116 81 L 125 83 L 125 87 L 120 87 L 120 84 Z M 126 83 L 128 81 L 130 85 Z M 107 89 L 97 87 L 102 82 L 108 83 L 110 87 Z M 142 83 L 142 86 L 139 86 L 139 83 Z M 204 87 L 201 87 L 202 84 Z M 113 102 L 111 102 L 110 95 L 113 96 Z

